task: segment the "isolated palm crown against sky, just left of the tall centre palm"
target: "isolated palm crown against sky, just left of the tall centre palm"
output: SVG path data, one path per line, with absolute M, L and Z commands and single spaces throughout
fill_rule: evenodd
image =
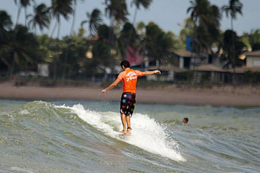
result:
M 99 9 L 94 9 L 91 14 L 87 14 L 87 20 L 83 20 L 81 22 L 81 27 L 85 23 L 89 23 L 89 32 L 90 36 L 93 36 L 93 33 L 96 34 L 98 31 L 98 27 L 103 24 L 103 20 L 101 18 L 101 12 Z

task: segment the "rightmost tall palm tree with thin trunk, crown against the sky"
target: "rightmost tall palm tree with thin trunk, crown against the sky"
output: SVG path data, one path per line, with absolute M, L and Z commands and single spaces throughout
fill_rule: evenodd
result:
M 242 7 L 243 4 L 239 0 L 229 0 L 229 5 L 223 6 L 222 12 L 226 13 L 226 16 L 229 18 L 231 17 L 231 30 L 233 31 L 233 20 L 236 20 L 237 13 L 242 15 Z M 232 32 L 234 33 L 234 32 Z M 232 58 L 235 59 L 235 35 L 232 34 Z M 235 64 L 233 65 L 233 84 L 235 84 Z

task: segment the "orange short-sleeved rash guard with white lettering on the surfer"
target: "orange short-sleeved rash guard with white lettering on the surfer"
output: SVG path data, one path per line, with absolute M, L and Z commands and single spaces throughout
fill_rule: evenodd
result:
M 143 72 L 133 69 L 127 69 L 124 72 L 121 72 L 117 79 L 123 81 L 123 93 L 131 92 L 136 93 L 136 82 L 137 77 L 143 76 Z

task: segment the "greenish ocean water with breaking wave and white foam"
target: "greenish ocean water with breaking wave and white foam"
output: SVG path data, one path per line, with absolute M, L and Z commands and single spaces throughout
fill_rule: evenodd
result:
M 137 103 L 131 127 L 119 102 L 0 100 L 0 172 L 260 170 L 260 108 Z

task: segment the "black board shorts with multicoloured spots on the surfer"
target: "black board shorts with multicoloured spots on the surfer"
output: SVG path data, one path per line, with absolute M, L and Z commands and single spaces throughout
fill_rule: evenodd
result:
M 122 93 L 120 102 L 120 113 L 126 116 L 132 116 L 136 105 L 135 93 Z

